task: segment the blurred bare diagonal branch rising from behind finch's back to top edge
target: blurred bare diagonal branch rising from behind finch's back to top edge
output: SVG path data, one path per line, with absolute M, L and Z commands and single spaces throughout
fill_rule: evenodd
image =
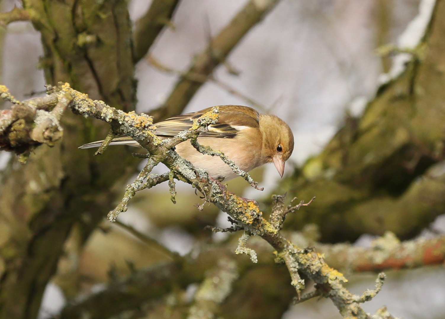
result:
M 168 118 L 179 114 L 198 89 L 202 81 L 190 79 L 190 76 L 201 75 L 207 78 L 213 70 L 223 63 L 227 55 L 239 43 L 246 33 L 259 23 L 279 0 L 250 0 L 237 15 L 211 39 L 208 47 L 196 57 L 185 76 L 178 80 L 169 97 L 152 113 L 157 118 Z

